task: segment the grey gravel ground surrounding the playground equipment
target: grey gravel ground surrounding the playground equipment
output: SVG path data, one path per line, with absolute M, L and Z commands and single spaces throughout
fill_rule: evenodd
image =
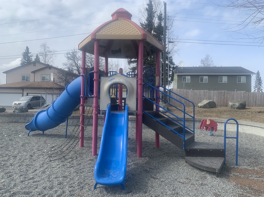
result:
M 78 128 L 68 127 L 67 140 L 65 126 L 44 135 L 34 131 L 27 137 L 24 124 L 0 123 L 0 196 L 264 196 L 262 136 L 239 133 L 238 166 L 236 140 L 227 139 L 227 165 L 216 178 L 215 173 L 185 163 L 184 151 L 162 137 L 156 149 L 155 133 L 150 129 L 143 129 L 142 158 L 137 158 L 135 129 L 129 128 L 123 191 L 121 186 L 97 185 L 93 189 L 97 156 L 92 156 L 92 127 L 86 128 L 83 148 L 72 131 Z M 101 131 L 100 126 L 97 153 Z M 223 147 L 223 130 L 214 134 L 208 136 L 208 132 L 196 129 L 196 141 Z M 235 132 L 228 135 L 235 136 Z

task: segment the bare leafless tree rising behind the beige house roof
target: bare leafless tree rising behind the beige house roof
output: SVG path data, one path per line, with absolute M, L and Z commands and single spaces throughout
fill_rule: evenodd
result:
M 57 51 L 51 50 L 46 41 L 40 45 L 39 57 L 44 64 L 54 64 L 54 61 L 57 58 L 56 53 Z

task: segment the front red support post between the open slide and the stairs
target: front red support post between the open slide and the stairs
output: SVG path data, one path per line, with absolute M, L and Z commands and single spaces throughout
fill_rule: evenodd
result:
M 138 157 L 142 157 L 143 40 L 138 41 Z

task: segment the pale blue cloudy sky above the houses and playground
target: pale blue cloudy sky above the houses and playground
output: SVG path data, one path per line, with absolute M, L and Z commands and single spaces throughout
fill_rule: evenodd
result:
M 264 77 L 264 44 L 258 40 L 239 39 L 244 35 L 232 32 L 247 17 L 245 11 L 222 9 L 216 0 L 170 0 L 167 3 L 168 19 L 173 19 L 175 36 L 181 39 L 179 55 L 174 62 L 184 66 L 199 66 L 201 58 L 209 54 L 216 66 L 242 66 L 252 72 L 260 71 Z M 222 3 L 228 2 L 223 0 Z M 215 4 L 214 4 L 215 3 Z M 102 23 L 111 20 L 111 14 L 125 8 L 138 23 L 138 7 L 134 1 L 33 1 L 1 0 L 0 5 L 0 80 L 2 72 L 20 65 L 26 46 L 37 54 L 41 43 L 57 50 L 54 66 L 62 68 L 64 54 L 78 44 Z M 163 4 L 163 3 L 162 3 Z M 264 24 L 262 24 L 263 26 Z M 240 26 L 241 27 L 241 26 Z M 251 34 L 252 26 L 246 27 Z M 231 28 L 231 29 L 230 29 Z M 174 37 L 170 39 L 173 40 Z M 124 65 L 123 65 L 124 66 Z M 252 77 L 252 86 L 255 76 Z

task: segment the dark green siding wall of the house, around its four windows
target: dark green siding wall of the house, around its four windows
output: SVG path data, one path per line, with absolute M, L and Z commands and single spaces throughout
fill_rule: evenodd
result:
M 177 75 L 177 88 L 183 89 L 182 76 L 190 76 L 190 83 L 184 84 L 187 90 L 246 91 L 251 92 L 251 75 Z M 207 83 L 200 83 L 200 76 L 208 76 Z M 219 83 L 219 76 L 227 76 L 227 83 Z M 246 83 L 237 83 L 237 76 L 246 76 Z

